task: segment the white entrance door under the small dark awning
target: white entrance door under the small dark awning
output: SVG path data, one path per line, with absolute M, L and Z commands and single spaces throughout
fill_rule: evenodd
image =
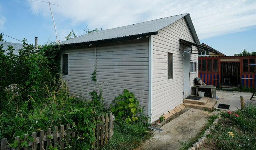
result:
M 189 77 L 190 77 L 190 53 L 189 52 L 186 52 L 184 51 L 183 52 L 183 64 L 184 64 L 184 67 L 183 67 L 183 98 L 184 97 L 187 97 L 188 95 L 190 95 L 190 80 L 189 80 Z

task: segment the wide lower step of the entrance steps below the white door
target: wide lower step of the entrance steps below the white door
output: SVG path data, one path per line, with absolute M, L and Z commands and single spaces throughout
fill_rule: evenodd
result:
M 210 98 L 205 105 L 199 105 L 195 103 L 182 103 L 186 107 L 195 108 L 195 109 L 206 109 L 211 111 L 213 106 L 215 105 L 217 99 Z

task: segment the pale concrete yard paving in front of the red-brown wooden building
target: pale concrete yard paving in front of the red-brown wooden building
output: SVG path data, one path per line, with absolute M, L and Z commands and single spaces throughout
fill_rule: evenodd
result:
M 241 108 L 240 95 L 244 96 L 244 103 L 248 105 L 250 103 L 256 104 L 256 99 L 250 100 L 252 92 L 238 92 L 238 91 L 222 91 L 216 90 L 216 95 L 218 95 L 217 103 L 214 105 L 214 108 L 219 109 L 218 105 L 227 104 L 230 105 L 230 109 L 220 109 L 224 111 L 236 111 L 238 108 Z

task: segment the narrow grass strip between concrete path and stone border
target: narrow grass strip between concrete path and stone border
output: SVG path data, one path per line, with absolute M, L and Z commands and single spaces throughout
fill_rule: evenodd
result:
M 214 119 L 216 119 L 217 115 L 212 115 L 208 118 L 208 123 L 201 129 L 201 131 L 196 135 L 196 137 L 191 137 L 188 141 L 179 141 L 181 144 L 181 148 L 179 150 L 187 150 L 188 148 L 192 147 L 192 144 L 197 142 L 198 138 L 201 138 L 204 135 L 204 131 L 208 129 L 212 123 L 214 122 Z

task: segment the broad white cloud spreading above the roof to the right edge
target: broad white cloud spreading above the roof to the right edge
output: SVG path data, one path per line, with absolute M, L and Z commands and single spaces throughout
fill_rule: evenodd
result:
M 62 31 L 77 24 L 90 29 L 110 29 L 188 12 L 200 39 L 244 31 L 256 25 L 255 0 L 52 0 L 51 3 L 62 6 L 52 5 L 54 16 L 68 22 Z M 34 14 L 50 16 L 48 4 L 29 4 Z

